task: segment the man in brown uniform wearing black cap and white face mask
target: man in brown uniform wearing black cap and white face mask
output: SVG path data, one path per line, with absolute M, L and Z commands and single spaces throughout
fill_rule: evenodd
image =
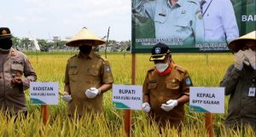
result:
M 157 43 L 149 59 L 154 67 L 148 70 L 143 83 L 143 111 L 160 126 L 169 123 L 181 128 L 184 117 L 183 106 L 189 101 L 189 73 L 172 61 L 169 48 Z

